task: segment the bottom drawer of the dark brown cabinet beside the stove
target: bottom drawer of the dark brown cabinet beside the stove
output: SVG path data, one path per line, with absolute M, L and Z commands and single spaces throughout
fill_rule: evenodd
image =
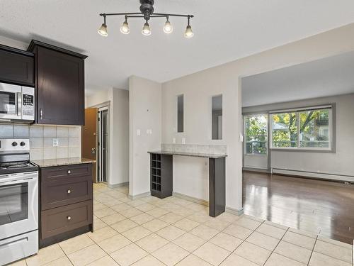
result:
M 65 233 L 93 222 L 92 201 L 82 201 L 41 213 L 40 238 Z

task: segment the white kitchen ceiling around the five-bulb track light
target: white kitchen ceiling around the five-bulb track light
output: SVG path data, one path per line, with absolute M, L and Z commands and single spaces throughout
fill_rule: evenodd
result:
M 98 13 L 125 11 L 139 11 L 139 1 L 0 0 L 0 35 L 89 55 L 86 90 L 93 92 L 127 89 L 132 74 L 166 82 L 354 22 L 353 0 L 156 0 L 156 12 L 193 13 L 195 37 L 183 37 L 184 18 L 170 19 L 171 35 L 162 31 L 164 20 L 155 18 L 149 37 L 141 34 L 139 19 L 122 35 L 123 19 L 108 18 L 108 38 L 98 35 Z

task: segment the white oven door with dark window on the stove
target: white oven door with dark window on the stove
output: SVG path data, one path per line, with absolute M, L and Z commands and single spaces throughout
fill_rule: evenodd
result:
M 38 229 L 38 172 L 0 175 L 0 240 Z

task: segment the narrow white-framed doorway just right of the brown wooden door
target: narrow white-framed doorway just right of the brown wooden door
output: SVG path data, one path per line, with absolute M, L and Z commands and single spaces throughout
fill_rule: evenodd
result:
M 108 182 L 108 106 L 98 109 L 97 182 Z

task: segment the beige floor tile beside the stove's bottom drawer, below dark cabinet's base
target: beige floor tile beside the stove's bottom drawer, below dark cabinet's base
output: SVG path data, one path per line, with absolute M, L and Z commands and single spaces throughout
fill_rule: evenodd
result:
M 28 257 L 25 262 L 28 266 L 38 266 L 44 265 L 45 263 L 51 262 L 53 260 L 59 259 L 59 257 L 64 257 L 65 253 L 58 244 L 50 245 L 47 248 L 42 248 L 39 250 L 37 255 L 33 257 Z

